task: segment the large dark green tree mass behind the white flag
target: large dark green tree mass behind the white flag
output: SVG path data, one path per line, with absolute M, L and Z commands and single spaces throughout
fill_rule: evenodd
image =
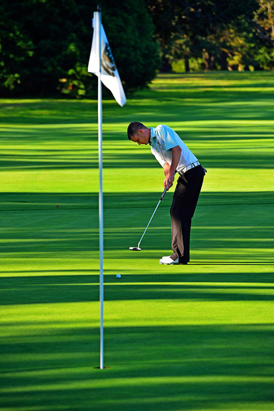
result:
M 95 0 L 2 0 L 0 90 L 6 95 L 88 96 Z M 158 45 L 143 0 L 102 0 L 102 22 L 125 89 L 156 74 Z M 142 22 L 143 24 L 140 24 Z

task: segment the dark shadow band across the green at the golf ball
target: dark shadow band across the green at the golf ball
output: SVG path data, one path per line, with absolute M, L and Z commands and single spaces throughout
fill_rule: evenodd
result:
M 81 270 L 80 270 L 81 271 Z M 40 273 L 40 272 L 38 272 Z M 193 300 L 193 301 L 273 301 L 270 275 L 123 273 L 105 276 L 105 301 Z M 258 285 L 261 283 L 268 285 Z M 147 284 L 146 284 L 147 283 Z M 157 283 L 160 283 L 157 285 Z M 193 284 L 195 283 L 195 284 Z M 206 283 L 206 284 L 205 284 Z M 210 284 L 208 284 L 210 283 Z M 230 284 L 230 283 L 233 283 Z M 235 285 L 236 283 L 236 285 Z M 237 284 L 241 283 L 241 284 Z M 245 283 L 244 285 L 242 283 Z M 253 284 L 256 283 L 256 284 Z M 0 278 L 2 305 L 98 301 L 99 275 L 13 276 Z

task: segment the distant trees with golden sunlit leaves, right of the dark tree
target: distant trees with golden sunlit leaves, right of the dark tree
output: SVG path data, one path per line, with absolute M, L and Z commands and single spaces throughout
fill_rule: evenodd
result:
M 274 2 L 145 0 L 160 44 L 162 71 L 190 59 L 200 70 L 274 69 Z

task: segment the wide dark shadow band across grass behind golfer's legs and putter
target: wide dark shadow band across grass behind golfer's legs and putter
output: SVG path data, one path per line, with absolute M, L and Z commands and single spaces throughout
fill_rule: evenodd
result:
M 129 247 L 137 246 L 159 195 L 105 195 L 104 250 L 115 264 L 119 259 L 129 262 L 137 258 L 141 267 L 143 259 L 158 262 L 165 255 L 161 253 L 170 245 L 171 195 L 160 204 L 142 240 L 141 253 L 129 251 Z M 81 253 L 88 253 L 85 258 L 97 264 L 97 201 L 95 194 L 3 194 L 2 208 L 9 211 L 3 212 L 2 257 L 48 258 L 53 253 L 59 258 L 65 252 L 77 255 L 80 261 Z M 202 193 L 191 236 L 191 250 L 201 250 L 197 264 L 272 264 L 271 201 L 271 192 Z

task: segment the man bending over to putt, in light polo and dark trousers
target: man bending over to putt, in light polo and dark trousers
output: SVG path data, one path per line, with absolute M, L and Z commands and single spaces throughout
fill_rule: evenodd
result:
M 168 125 L 146 127 L 133 121 L 127 127 L 127 137 L 135 143 L 149 144 L 151 152 L 163 167 L 163 186 L 169 190 L 177 172 L 177 180 L 170 209 L 173 254 L 160 259 L 160 264 L 188 264 L 190 228 L 206 170 L 177 133 Z

